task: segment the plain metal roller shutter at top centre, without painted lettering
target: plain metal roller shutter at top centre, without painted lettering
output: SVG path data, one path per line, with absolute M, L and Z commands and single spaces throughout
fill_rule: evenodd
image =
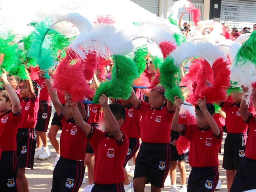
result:
M 131 0 L 151 13 L 159 16 L 159 0 Z

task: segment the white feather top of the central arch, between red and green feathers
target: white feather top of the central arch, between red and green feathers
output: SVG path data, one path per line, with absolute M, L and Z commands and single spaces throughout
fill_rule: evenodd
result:
M 82 47 L 83 51 L 79 48 Z M 132 41 L 127 40 L 114 26 L 100 25 L 91 31 L 82 31 L 71 42 L 70 47 L 82 58 L 95 51 L 97 55 L 108 58 L 110 55 L 124 55 L 133 49 Z

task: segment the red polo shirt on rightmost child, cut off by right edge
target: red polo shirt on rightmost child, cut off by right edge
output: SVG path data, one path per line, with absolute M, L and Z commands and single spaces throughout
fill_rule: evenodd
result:
M 245 145 L 245 156 L 256 160 L 256 121 L 255 115 L 250 113 L 246 123 L 249 126 L 249 134 Z

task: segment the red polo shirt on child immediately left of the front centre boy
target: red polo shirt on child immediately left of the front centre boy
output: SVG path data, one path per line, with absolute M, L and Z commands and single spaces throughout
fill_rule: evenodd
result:
M 60 134 L 60 156 L 66 159 L 84 161 L 86 134 L 76 125 L 75 121 L 67 120 L 62 115 L 62 131 Z M 90 124 L 89 116 L 84 121 Z

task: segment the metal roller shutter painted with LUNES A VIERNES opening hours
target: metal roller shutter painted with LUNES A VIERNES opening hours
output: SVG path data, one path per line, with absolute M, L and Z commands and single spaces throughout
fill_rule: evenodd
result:
M 256 0 L 225 0 L 221 1 L 220 20 L 230 27 L 253 27 L 256 23 Z

